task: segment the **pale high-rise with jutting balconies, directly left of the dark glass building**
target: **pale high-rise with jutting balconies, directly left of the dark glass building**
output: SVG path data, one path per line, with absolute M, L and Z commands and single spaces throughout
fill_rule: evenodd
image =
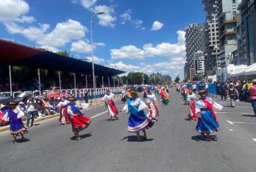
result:
M 220 67 L 231 63 L 231 53 L 237 50 L 237 10 L 241 0 L 218 0 Z

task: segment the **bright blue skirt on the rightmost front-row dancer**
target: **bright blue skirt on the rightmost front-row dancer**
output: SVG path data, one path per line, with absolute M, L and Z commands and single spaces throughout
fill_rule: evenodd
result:
M 210 110 L 203 111 L 204 114 L 201 114 L 201 118 L 199 118 L 197 125 L 196 125 L 196 131 L 199 133 L 202 132 L 209 132 L 212 133 L 213 131 L 219 131 L 219 124 L 214 119 L 214 117 L 211 114 Z

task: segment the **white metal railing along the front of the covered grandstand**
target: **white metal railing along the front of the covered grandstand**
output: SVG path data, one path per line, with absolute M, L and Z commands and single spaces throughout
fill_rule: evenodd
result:
M 125 90 L 125 87 L 110 87 L 110 88 L 96 88 L 95 89 L 95 98 L 100 98 L 102 97 L 107 90 L 109 89 L 110 92 L 114 93 L 114 94 L 119 94 L 121 93 L 123 90 Z M 86 94 L 86 90 L 88 92 L 88 99 L 93 98 L 93 89 L 61 89 L 58 90 L 61 93 L 68 93 L 70 92 L 71 94 L 75 95 L 76 98 L 80 98 L 80 97 L 84 97 Z M 48 92 L 50 90 L 44 90 L 42 92 Z M 35 90 L 35 91 L 27 91 L 24 93 L 31 93 L 34 96 L 39 96 L 40 94 L 42 94 L 42 92 L 40 92 L 39 90 Z M 11 96 L 13 98 L 16 98 L 19 94 L 21 94 L 23 92 L 0 92 L 0 95 L 3 96 Z

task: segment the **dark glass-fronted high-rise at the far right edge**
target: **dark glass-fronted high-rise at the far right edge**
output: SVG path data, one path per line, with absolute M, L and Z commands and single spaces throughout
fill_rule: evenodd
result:
M 241 19 L 237 24 L 238 54 L 234 65 L 256 63 L 256 0 L 242 0 L 238 10 Z

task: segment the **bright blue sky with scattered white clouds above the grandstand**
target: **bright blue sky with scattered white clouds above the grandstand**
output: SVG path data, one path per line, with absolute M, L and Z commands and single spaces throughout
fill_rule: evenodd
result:
M 90 19 L 93 19 L 93 46 Z M 3 0 L 0 37 L 127 72 L 183 77 L 185 33 L 203 23 L 201 0 Z M 134 65 L 133 65 L 134 64 Z

